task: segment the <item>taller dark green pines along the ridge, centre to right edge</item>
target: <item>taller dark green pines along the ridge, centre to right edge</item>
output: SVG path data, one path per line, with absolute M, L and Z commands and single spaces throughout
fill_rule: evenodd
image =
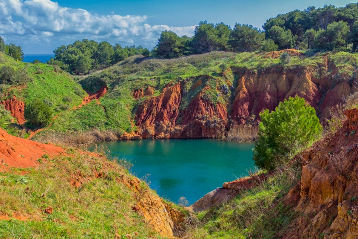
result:
M 358 50 L 358 4 L 342 8 L 310 6 L 270 18 L 260 30 L 238 24 L 231 29 L 224 23 L 202 21 L 194 36 L 178 37 L 172 31 L 161 33 L 153 53 L 164 58 L 211 51 L 276 51 L 280 49 Z

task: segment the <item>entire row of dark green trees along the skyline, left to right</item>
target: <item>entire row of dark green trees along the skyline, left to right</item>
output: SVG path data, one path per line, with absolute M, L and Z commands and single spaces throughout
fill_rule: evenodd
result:
M 233 28 L 224 23 L 201 21 L 194 36 L 179 37 L 165 30 L 152 51 L 142 46 L 112 46 L 108 42 L 83 39 L 54 50 L 55 64 L 72 74 L 86 74 L 111 66 L 123 59 L 142 54 L 146 57 L 176 58 L 211 51 L 255 52 L 280 49 L 315 49 L 358 51 L 358 3 L 336 8 L 310 6 L 266 20 L 263 30 L 248 24 L 236 23 Z M 23 60 L 20 46 L 6 45 L 0 38 L 0 51 Z

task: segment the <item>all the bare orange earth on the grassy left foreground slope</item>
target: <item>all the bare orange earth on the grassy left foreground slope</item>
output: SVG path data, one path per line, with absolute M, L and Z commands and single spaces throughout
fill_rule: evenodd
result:
M 86 161 L 87 163 L 96 165 L 96 167 L 100 165 L 99 168 L 101 171 L 93 170 L 89 175 L 83 175 L 81 171 L 66 171 L 64 173 L 68 174 L 68 181 L 64 181 L 63 183 L 70 183 L 73 187 L 79 187 L 83 185 L 83 183 L 96 178 L 102 178 L 107 169 L 116 169 L 116 175 L 118 175 L 115 179 L 116 182 L 124 184 L 133 193 L 133 195 L 131 195 L 133 196 L 134 204 L 132 210 L 142 216 L 143 220 L 150 225 L 153 230 L 165 238 L 174 238 L 183 228 L 185 215 L 163 201 L 163 199 L 149 188 L 143 191 L 143 182 L 138 178 L 123 173 L 123 169 L 118 164 L 109 161 L 101 155 L 89 152 L 80 153 L 83 154 L 84 157 L 88 157 L 84 159 L 88 160 L 88 162 Z M 27 168 L 36 166 L 38 164 L 37 159 L 40 159 L 44 154 L 47 154 L 51 158 L 63 154 L 66 156 L 66 160 L 62 163 L 71 163 L 71 160 L 68 160 L 71 154 L 64 152 L 64 149 L 61 147 L 14 137 L 6 133 L 3 129 L 0 129 L 0 172 L 7 171 L 9 167 Z M 57 158 L 58 161 L 61 159 L 61 157 Z M 58 170 L 66 170 L 61 167 L 61 165 L 52 162 L 43 162 L 44 167 L 58 167 Z M 44 212 L 50 214 L 52 213 L 51 209 L 51 207 L 47 207 Z M 21 215 L 15 211 L 11 215 L 11 218 L 24 221 L 41 220 L 41 218 L 35 216 L 36 215 Z M 10 220 L 11 218 L 8 215 L 0 215 L 0 220 Z

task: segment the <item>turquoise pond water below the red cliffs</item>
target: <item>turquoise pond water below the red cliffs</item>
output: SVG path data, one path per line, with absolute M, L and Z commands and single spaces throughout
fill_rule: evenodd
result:
M 214 139 L 143 139 L 98 143 L 113 156 L 133 163 L 139 178 L 150 174 L 150 187 L 173 202 L 189 204 L 254 168 L 253 143 Z

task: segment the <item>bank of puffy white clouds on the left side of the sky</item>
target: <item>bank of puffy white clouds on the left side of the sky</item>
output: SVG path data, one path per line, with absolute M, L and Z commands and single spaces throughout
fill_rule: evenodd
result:
M 53 50 L 58 45 L 50 43 L 68 44 L 83 38 L 153 47 L 163 30 L 173 30 L 179 36 L 194 34 L 195 26 L 150 25 L 146 21 L 146 15 L 99 15 L 50 0 L 0 0 L 0 35 L 30 51 L 32 46 Z

